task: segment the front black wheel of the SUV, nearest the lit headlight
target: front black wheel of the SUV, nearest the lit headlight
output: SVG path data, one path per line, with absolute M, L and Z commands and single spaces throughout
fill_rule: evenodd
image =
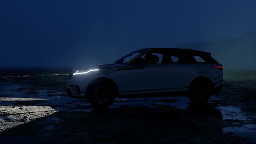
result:
M 99 79 L 89 85 L 85 98 L 94 108 L 108 108 L 117 97 L 118 92 L 111 82 Z

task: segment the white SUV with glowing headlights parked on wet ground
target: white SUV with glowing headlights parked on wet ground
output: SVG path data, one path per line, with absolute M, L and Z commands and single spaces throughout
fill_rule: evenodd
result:
M 66 82 L 72 98 L 107 108 L 115 98 L 187 96 L 207 102 L 223 86 L 223 67 L 208 52 L 177 48 L 139 49 L 112 64 L 73 69 Z

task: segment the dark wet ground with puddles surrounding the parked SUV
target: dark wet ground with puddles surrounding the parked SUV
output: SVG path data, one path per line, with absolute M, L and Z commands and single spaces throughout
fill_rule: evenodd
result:
M 255 75 L 229 72 L 223 91 L 205 105 L 129 98 L 105 111 L 67 97 L 66 75 L 5 77 L 0 143 L 256 143 Z

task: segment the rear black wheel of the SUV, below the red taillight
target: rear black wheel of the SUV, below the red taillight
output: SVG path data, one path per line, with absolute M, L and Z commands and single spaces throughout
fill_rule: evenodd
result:
M 212 93 L 212 85 L 205 80 L 197 80 L 191 83 L 188 99 L 193 103 L 206 103 Z

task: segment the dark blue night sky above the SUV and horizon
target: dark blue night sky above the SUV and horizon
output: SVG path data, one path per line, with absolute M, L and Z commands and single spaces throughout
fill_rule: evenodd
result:
M 255 0 L 1 0 L 0 66 L 114 62 L 256 30 Z

